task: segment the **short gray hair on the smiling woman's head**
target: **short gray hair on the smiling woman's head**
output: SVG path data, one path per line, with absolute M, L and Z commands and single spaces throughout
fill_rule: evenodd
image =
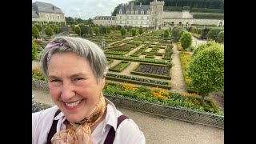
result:
M 51 46 L 42 50 L 41 55 L 41 69 L 48 77 L 48 62 L 55 53 L 62 53 L 65 51 L 73 52 L 83 58 L 87 59 L 90 67 L 94 72 L 94 76 L 101 81 L 103 76 L 106 76 L 107 60 L 102 49 L 84 38 L 76 38 L 69 36 L 57 36 L 51 42 L 58 42 L 60 45 Z

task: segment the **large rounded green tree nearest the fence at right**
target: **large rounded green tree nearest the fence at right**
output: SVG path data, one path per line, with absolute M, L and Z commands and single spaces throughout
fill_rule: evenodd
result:
M 219 43 L 205 48 L 190 59 L 187 74 L 191 86 L 204 98 L 211 92 L 224 89 L 224 46 Z

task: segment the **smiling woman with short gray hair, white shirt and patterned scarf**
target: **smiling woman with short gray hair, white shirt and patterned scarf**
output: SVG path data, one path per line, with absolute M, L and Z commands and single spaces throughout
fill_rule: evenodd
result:
M 107 61 L 97 45 L 58 36 L 41 62 L 56 106 L 32 114 L 32 143 L 145 143 L 136 123 L 102 94 Z

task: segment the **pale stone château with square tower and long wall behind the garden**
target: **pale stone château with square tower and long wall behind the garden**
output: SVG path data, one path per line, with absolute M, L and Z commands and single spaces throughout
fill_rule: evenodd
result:
M 120 25 L 120 26 L 142 26 L 155 27 L 166 25 L 191 24 L 224 26 L 224 19 L 199 19 L 193 18 L 193 13 L 189 10 L 164 11 L 164 1 L 150 2 L 150 5 L 122 5 L 116 16 L 96 16 L 94 24 L 102 26 Z

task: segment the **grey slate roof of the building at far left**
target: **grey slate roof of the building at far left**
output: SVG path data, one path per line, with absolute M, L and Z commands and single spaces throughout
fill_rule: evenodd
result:
M 46 2 L 34 2 L 32 3 L 32 17 L 34 15 L 33 11 L 37 11 L 38 13 L 55 13 L 55 14 L 64 14 L 60 8 L 54 6 L 53 4 Z

